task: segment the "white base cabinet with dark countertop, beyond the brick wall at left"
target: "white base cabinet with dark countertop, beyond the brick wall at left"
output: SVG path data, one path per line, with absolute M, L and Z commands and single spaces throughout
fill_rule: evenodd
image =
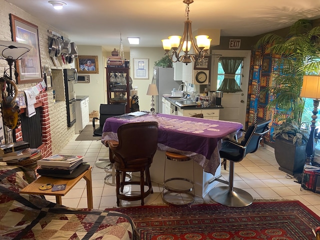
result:
M 75 102 L 74 132 L 78 134 L 89 123 L 89 97 L 83 96 Z

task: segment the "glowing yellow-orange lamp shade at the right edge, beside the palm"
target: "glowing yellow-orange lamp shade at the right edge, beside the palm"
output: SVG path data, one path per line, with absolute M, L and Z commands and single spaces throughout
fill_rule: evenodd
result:
M 320 98 L 320 76 L 304 75 L 302 82 L 301 97 Z

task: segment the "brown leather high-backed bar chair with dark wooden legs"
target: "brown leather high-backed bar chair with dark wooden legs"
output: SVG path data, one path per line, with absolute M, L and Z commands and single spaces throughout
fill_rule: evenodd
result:
M 119 206 L 120 199 L 135 201 L 153 193 L 149 167 L 157 148 L 158 123 L 156 121 L 132 122 L 120 125 L 117 130 L 118 142 L 108 141 L 111 150 L 110 161 L 116 170 L 116 204 Z M 127 180 L 126 172 L 140 172 L 140 180 Z M 120 181 L 120 173 L 122 173 Z M 144 180 L 145 173 L 145 180 Z M 140 194 L 130 195 L 123 193 L 125 185 L 140 185 Z M 148 189 L 144 191 L 144 186 Z

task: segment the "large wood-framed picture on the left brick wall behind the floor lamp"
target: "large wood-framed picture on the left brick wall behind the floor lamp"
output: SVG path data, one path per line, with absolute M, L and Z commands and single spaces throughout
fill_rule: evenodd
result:
M 31 49 L 15 61 L 18 83 L 39 82 L 42 80 L 38 27 L 10 13 L 12 40 L 25 43 Z

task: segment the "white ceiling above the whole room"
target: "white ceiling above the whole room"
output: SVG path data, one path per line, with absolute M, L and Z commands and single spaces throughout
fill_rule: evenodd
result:
M 182 0 L 62 0 L 54 10 L 48 0 L 6 0 L 65 32 L 77 45 L 101 45 L 124 50 L 128 36 L 140 45 L 161 47 L 161 39 L 182 35 Z M 300 18 L 320 18 L 320 0 L 194 0 L 189 19 L 192 30 L 221 29 L 221 36 L 255 36 L 291 25 Z M 135 45 L 136 46 L 136 45 Z

